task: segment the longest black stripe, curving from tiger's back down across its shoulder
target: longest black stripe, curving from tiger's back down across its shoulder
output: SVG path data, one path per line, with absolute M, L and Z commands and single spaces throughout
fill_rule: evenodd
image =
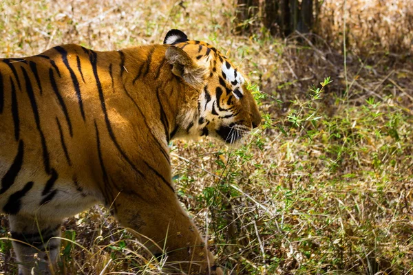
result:
M 129 159 L 129 157 L 127 157 L 127 155 L 125 154 L 125 152 L 122 150 L 122 148 L 120 148 L 120 145 L 118 144 L 118 141 L 116 140 L 116 137 L 114 135 L 114 131 L 112 130 L 112 126 L 109 122 L 109 117 L 107 116 L 107 111 L 106 111 L 106 105 L 105 105 L 105 98 L 103 97 L 103 90 L 102 90 L 102 85 L 100 84 L 100 80 L 99 80 L 99 76 L 98 76 L 98 67 L 97 67 L 97 54 L 96 52 L 89 50 L 91 52 L 91 54 L 89 55 L 90 58 L 90 63 L 92 63 L 92 69 L 93 69 L 93 74 L 94 74 L 94 78 L 96 80 L 96 85 L 98 87 L 98 93 L 99 93 L 99 99 L 100 99 L 100 107 L 102 107 L 102 111 L 103 111 L 103 115 L 105 116 L 105 123 L 106 123 L 106 128 L 107 131 L 109 132 L 109 136 L 112 139 L 112 142 L 114 142 L 116 148 L 118 149 L 120 155 L 123 156 L 123 158 L 125 158 L 125 160 L 127 161 L 127 163 L 134 168 L 134 170 L 141 176 L 144 177 L 143 173 L 140 172 L 140 170 L 138 170 L 138 168 L 136 168 L 135 164 L 133 162 L 131 162 L 131 160 Z

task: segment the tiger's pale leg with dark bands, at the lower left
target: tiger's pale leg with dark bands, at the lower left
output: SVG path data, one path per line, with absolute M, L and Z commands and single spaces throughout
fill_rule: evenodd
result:
M 49 262 L 59 256 L 61 221 L 46 221 L 34 217 L 10 215 L 13 248 L 19 263 L 19 275 L 50 274 Z M 32 246 L 30 246 L 32 245 Z

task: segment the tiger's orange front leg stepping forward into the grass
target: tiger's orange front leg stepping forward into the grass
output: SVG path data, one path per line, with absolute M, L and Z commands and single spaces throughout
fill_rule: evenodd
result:
M 167 270 L 171 269 L 172 274 L 223 274 L 176 195 L 171 190 L 165 192 L 170 194 L 162 196 L 162 192 L 157 192 L 152 199 L 120 194 L 115 202 L 116 219 L 160 248 L 165 247 L 163 256 L 167 257 Z M 147 241 L 145 245 L 160 259 L 162 251 L 153 242 Z

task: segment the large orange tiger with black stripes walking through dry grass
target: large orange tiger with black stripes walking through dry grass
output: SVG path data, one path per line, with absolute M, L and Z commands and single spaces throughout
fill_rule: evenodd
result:
M 0 211 L 19 274 L 50 274 L 63 219 L 96 203 L 151 240 L 164 270 L 223 274 L 178 201 L 169 142 L 240 143 L 261 122 L 247 84 L 215 47 L 175 29 L 163 44 L 0 59 Z

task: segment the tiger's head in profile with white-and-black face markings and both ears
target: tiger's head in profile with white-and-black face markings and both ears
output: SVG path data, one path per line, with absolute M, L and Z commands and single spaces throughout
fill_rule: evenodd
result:
M 260 125 L 261 115 L 242 72 L 215 47 L 170 30 L 164 44 L 172 72 L 196 91 L 178 118 L 178 136 L 211 136 L 229 144 Z M 176 136 L 177 136 L 176 135 Z

